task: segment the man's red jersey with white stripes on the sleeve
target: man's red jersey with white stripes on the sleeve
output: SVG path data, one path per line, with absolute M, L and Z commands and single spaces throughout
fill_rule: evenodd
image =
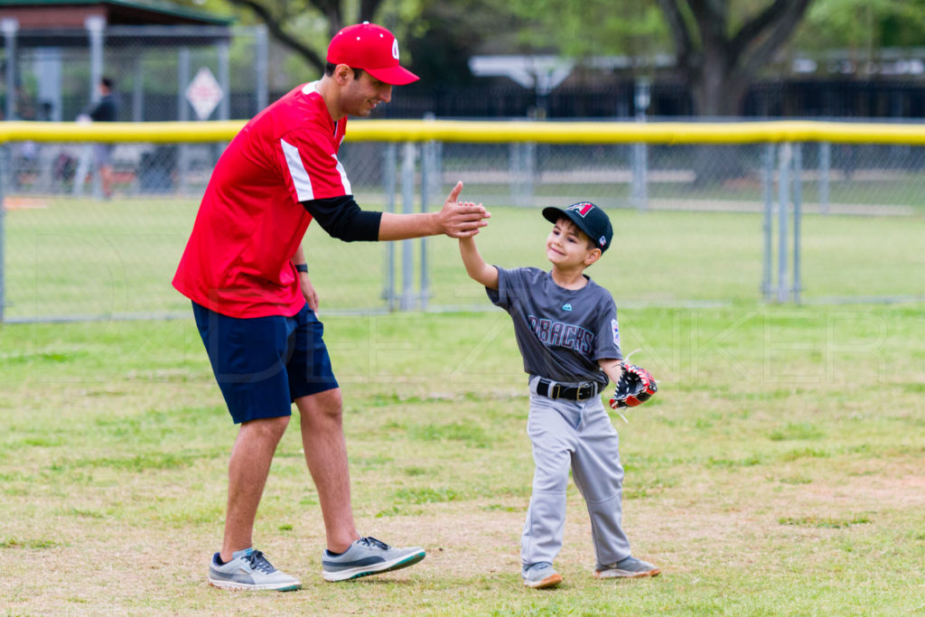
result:
M 244 126 L 218 159 L 173 285 L 232 317 L 291 316 L 305 303 L 290 259 L 312 221 L 300 202 L 352 193 L 338 161 L 347 117 L 316 82 Z

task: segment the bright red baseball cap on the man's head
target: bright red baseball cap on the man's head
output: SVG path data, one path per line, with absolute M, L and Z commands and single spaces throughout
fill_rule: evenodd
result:
M 327 45 L 327 61 L 364 71 L 393 86 L 418 80 L 399 65 L 399 42 L 395 35 L 375 23 L 364 21 L 341 29 Z

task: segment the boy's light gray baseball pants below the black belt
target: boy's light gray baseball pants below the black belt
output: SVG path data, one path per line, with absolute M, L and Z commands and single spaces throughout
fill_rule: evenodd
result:
M 570 468 L 591 515 L 598 570 L 628 557 L 629 539 L 620 526 L 620 438 L 600 397 L 588 401 L 549 399 L 536 394 L 536 377 L 531 379 L 530 389 L 527 434 L 533 442 L 536 471 L 521 537 L 524 567 L 540 561 L 551 563 L 559 554 Z

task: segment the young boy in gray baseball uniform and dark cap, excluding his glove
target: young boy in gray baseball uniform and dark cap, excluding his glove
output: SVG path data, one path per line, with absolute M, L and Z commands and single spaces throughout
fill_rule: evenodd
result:
M 474 238 L 460 239 L 466 272 L 491 302 L 511 314 L 524 371 L 530 376 L 527 433 L 536 473 L 521 537 L 524 585 L 556 586 L 552 561 L 562 545 L 569 469 L 591 515 L 599 578 L 656 576 L 660 570 L 630 554 L 623 533 L 623 467 L 619 438 L 599 392 L 623 371 L 617 310 L 611 294 L 585 268 L 611 244 L 610 218 L 595 204 L 545 208 L 552 270 L 487 265 Z M 643 369 L 638 369 L 643 370 Z

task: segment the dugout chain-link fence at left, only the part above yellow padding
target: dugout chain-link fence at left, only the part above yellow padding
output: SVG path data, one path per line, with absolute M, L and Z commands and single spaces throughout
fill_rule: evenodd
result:
M 3 119 L 73 121 L 93 106 L 94 77 L 102 76 L 114 82 L 120 121 L 253 117 L 267 104 L 268 43 L 261 28 L 109 26 L 100 35 L 105 45 L 98 60 L 88 36 L 62 30 L 53 40 L 18 44 L 13 52 L 4 46 Z M 223 95 L 197 118 L 187 89 L 203 69 Z

